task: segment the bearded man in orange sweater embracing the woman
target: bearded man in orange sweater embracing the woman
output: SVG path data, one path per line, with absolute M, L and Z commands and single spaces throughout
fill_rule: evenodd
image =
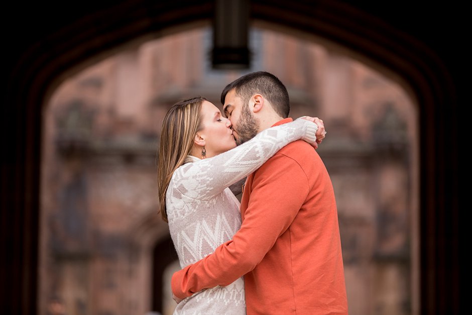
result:
M 292 119 L 287 89 L 268 72 L 221 94 L 238 144 Z M 346 314 L 336 203 L 319 155 L 304 141 L 278 151 L 248 176 L 242 226 L 213 254 L 174 273 L 176 300 L 244 275 L 248 314 Z

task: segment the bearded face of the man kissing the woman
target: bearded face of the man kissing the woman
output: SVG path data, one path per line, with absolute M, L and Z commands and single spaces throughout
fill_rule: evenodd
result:
M 241 97 L 236 94 L 235 89 L 226 94 L 223 113 L 231 122 L 237 145 L 243 144 L 257 135 L 259 121 L 249 110 L 248 104 L 244 104 Z

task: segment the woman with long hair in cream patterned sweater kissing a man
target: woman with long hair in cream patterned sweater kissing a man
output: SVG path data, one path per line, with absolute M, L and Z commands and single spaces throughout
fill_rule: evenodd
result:
M 299 119 L 236 147 L 231 123 L 205 98 L 169 110 L 161 132 L 159 199 L 181 267 L 214 252 L 241 227 L 240 203 L 227 187 L 292 141 L 314 144 L 316 130 L 316 124 Z M 193 294 L 175 313 L 245 314 L 243 278 Z

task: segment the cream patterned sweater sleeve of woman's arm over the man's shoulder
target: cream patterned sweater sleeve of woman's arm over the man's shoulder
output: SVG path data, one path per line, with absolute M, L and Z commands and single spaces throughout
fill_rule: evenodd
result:
M 175 189 L 190 198 L 208 200 L 234 182 L 258 169 L 290 142 L 316 141 L 316 124 L 297 119 L 268 128 L 246 143 L 217 156 L 179 167 L 174 174 Z

